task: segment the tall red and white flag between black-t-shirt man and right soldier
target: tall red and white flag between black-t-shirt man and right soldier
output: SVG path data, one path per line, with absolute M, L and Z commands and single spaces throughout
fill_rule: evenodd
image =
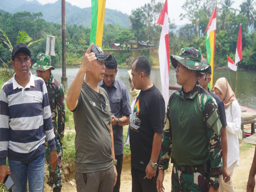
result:
M 169 101 L 169 23 L 167 0 L 156 24 L 163 26 L 159 42 L 159 65 L 165 108 Z

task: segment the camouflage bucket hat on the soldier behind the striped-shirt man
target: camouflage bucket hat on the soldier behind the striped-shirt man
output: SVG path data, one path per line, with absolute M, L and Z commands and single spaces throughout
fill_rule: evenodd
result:
M 47 54 L 40 53 L 37 55 L 36 63 L 32 66 L 35 70 L 45 71 L 54 67 L 51 65 L 50 56 Z

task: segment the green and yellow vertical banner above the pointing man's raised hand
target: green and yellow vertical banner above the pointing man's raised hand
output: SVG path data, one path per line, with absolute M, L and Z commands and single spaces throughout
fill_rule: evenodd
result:
M 92 25 L 90 44 L 94 43 L 102 47 L 106 0 L 92 0 Z

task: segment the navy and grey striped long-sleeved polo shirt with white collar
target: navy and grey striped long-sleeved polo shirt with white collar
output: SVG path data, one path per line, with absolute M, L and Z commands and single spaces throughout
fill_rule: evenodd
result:
M 0 165 L 6 156 L 17 161 L 33 160 L 45 153 L 45 137 L 56 150 L 45 82 L 30 73 L 23 88 L 13 78 L 0 92 Z

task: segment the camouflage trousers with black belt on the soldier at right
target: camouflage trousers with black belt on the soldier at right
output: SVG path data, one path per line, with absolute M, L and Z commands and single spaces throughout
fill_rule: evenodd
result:
M 209 191 L 209 174 L 203 171 L 195 173 L 183 173 L 174 162 L 171 173 L 172 192 L 206 192 Z

